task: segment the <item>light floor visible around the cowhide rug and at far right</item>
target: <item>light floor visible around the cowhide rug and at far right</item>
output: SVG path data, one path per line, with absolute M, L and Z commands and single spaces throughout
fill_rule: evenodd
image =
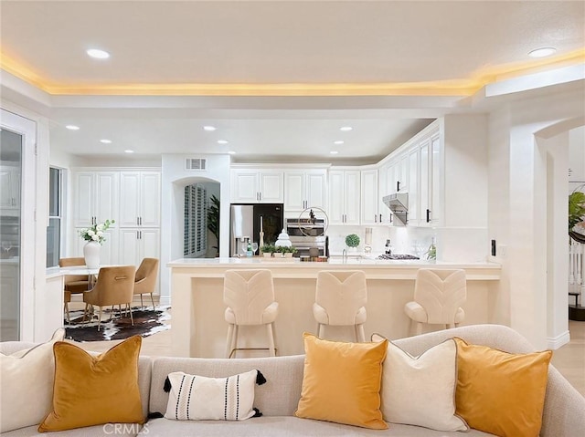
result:
M 168 323 L 171 321 L 169 320 Z M 569 321 L 570 341 L 553 352 L 552 364 L 585 396 L 585 322 Z M 82 349 L 102 352 L 121 340 L 77 343 Z M 143 338 L 142 355 L 170 356 L 171 329 Z

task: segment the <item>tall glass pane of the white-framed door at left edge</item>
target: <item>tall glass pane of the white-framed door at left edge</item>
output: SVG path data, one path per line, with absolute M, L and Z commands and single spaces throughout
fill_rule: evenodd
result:
M 0 341 L 20 339 L 23 136 L 0 131 Z

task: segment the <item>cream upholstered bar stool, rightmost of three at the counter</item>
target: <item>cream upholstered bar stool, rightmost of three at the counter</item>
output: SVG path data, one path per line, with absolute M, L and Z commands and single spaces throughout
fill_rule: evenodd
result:
M 421 268 L 414 283 L 414 301 L 404 306 L 410 317 L 410 332 L 422 334 L 423 323 L 457 327 L 465 317 L 461 306 L 466 298 L 464 270 Z

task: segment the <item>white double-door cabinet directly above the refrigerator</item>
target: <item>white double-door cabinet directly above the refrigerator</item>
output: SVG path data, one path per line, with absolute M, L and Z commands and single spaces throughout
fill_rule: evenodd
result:
M 284 203 L 282 172 L 232 169 L 230 180 L 231 203 Z

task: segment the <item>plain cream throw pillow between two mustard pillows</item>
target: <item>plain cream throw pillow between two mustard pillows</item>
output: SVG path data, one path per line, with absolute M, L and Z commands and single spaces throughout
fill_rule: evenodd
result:
M 381 341 L 372 335 L 372 341 Z M 437 431 L 467 431 L 455 415 L 457 346 L 452 339 L 412 357 L 391 341 L 382 370 L 382 414 L 385 421 Z

